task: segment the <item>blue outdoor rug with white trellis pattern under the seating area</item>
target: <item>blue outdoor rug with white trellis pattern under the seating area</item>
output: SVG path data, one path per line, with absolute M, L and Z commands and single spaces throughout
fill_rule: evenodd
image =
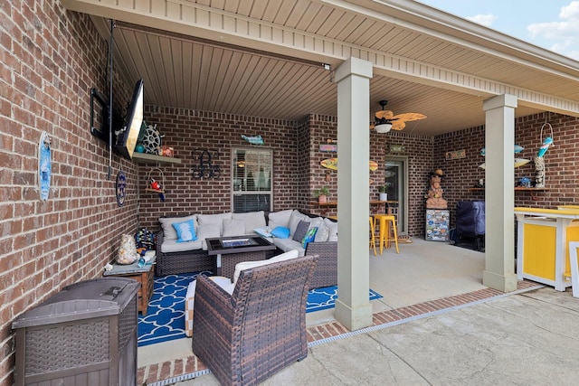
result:
M 211 276 L 210 272 L 203 272 Z M 185 338 L 185 294 L 198 272 L 168 275 L 155 278 L 153 295 L 148 303 L 147 315 L 138 316 L 138 346 L 159 344 Z M 370 289 L 370 300 L 382 297 Z M 333 308 L 337 299 L 337 286 L 309 291 L 306 312 Z

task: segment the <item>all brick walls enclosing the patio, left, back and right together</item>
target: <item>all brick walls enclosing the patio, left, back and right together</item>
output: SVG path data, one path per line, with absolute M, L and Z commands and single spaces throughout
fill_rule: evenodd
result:
M 181 165 L 161 165 L 166 202 L 144 193 L 151 165 L 112 156 L 108 178 L 108 147 L 90 135 L 90 88 L 108 89 L 108 42 L 100 38 L 90 17 L 67 12 L 60 2 L 5 2 L 0 8 L 0 386 L 13 383 L 14 336 L 18 315 L 51 297 L 62 287 L 98 278 L 113 259 L 120 235 L 141 226 L 156 227 L 157 217 L 188 212 L 231 209 L 229 163 L 232 146 L 249 146 L 242 134 L 261 134 L 274 152 L 274 210 L 305 207 L 311 190 L 325 181 L 314 149 L 336 136 L 336 118 L 310 115 L 298 122 L 273 118 L 147 107 L 146 118 L 157 124 L 164 142 L 174 146 Z M 115 104 L 124 104 L 132 84 L 116 78 Z M 146 86 L 147 87 L 147 86 Z M 516 205 L 553 208 L 577 198 L 577 129 L 579 120 L 556 114 L 518 118 L 516 143 L 522 157 L 532 158 L 540 146 L 545 121 L 554 129 L 555 146 L 546 155 L 546 185 L 539 193 L 516 193 Z M 40 202 L 37 187 L 38 142 L 43 131 L 52 138 L 50 199 Z M 545 133 L 544 133 L 545 137 Z M 471 193 L 484 171 L 479 149 L 482 127 L 436 138 L 391 132 L 371 134 L 371 158 L 384 165 L 389 144 L 403 145 L 409 160 L 409 233 L 423 235 L 423 194 L 427 176 L 442 168 L 445 198 L 451 207 L 460 200 L 480 199 Z M 216 180 L 194 180 L 195 149 L 207 148 L 222 167 Z M 464 148 L 467 158 L 446 160 L 447 151 Z M 302 161 L 302 158 L 305 161 Z M 311 167 L 308 167 L 311 166 Z M 124 206 L 115 198 L 114 177 L 127 174 Z M 379 169 L 381 170 L 381 169 Z M 517 169 L 517 178 L 533 175 L 532 165 Z M 372 175 L 374 184 L 384 176 Z M 330 174 L 330 199 L 336 199 L 336 174 Z M 321 183 L 325 184 L 325 183 Z M 332 195 L 333 194 L 333 195 Z M 371 189 L 371 197 L 375 190 Z

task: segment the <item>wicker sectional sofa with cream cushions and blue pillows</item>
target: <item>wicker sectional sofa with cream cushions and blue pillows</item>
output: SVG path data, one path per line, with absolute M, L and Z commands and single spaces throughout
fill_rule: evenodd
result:
M 195 227 L 196 240 L 178 241 L 176 229 L 178 224 L 187 221 Z M 315 239 L 303 248 L 301 240 L 294 240 L 296 231 L 303 231 L 308 222 L 308 229 L 318 228 Z M 243 236 L 258 234 L 255 229 L 272 231 L 276 228 L 289 230 L 288 238 L 266 237 L 276 249 L 268 251 L 266 259 L 291 249 L 297 249 L 299 256 L 318 255 L 318 267 L 311 280 L 311 288 L 337 285 L 337 221 L 302 213 L 298 210 L 280 212 L 249 212 L 193 214 L 182 217 L 159 218 L 161 230 L 157 233 L 157 276 L 175 275 L 187 272 L 215 272 L 216 259 L 209 256 L 206 238 Z M 176 224 L 176 226 L 174 226 Z M 279 228 L 280 227 L 280 228 Z

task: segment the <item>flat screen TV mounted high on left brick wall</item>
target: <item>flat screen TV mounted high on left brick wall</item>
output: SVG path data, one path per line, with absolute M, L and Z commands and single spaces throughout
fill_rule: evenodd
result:
M 143 123 L 143 80 L 140 79 L 135 85 L 133 98 L 130 100 L 127 108 L 127 118 L 124 126 L 115 131 L 117 140 L 114 149 L 119 155 L 132 159 L 137 145 L 138 133 Z

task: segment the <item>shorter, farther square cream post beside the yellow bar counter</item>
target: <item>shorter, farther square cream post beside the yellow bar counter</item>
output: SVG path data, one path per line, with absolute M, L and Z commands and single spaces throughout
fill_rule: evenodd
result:
M 485 270 L 482 284 L 510 292 L 515 275 L 515 108 L 517 97 L 498 95 L 485 110 Z

